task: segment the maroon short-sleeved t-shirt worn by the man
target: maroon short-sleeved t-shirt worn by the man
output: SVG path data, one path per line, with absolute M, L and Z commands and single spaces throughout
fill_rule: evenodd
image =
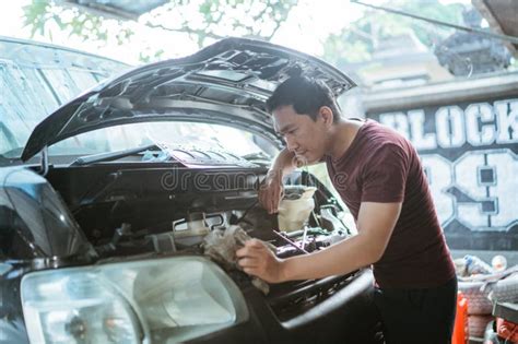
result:
M 423 167 L 407 139 L 367 120 L 348 151 L 326 164 L 355 220 L 362 202 L 402 202 L 385 253 L 373 264 L 380 287 L 434 287 L 455 276 Z

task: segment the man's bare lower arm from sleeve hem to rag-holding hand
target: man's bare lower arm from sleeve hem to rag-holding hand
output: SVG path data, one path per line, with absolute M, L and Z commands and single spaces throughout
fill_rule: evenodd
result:
M 363 202 L 358 234 L 316 253 L 278 259 L 258 240 L 236 252 L 248 274 L 270 283 L 345 274 L 377 262 L 385 252 L 401 212 L 401 203 Z

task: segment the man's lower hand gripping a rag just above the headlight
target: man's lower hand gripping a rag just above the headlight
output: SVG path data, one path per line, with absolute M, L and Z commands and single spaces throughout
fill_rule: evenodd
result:
M 261 241 L 250 239 L 245 247 L 236 251 L 238 264 L 247 274 L 259 277 L 268 283 L 283 281 L 283 260 L 279 259 Z

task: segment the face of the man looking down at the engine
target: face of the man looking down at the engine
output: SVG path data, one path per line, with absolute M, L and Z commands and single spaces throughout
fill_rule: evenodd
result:
M 273 110 L 272 115 L 275 131 L 299 161 L 315 163 L 323 156 L 329 124 L 320 114 L 314 121 L 309 116 L 298 115 L 292 105 L 286 105 Z

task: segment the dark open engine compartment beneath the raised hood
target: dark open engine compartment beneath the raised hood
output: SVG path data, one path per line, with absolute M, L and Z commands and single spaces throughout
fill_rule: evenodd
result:
M 266 171 L 97 164 L 55 168 L 47 179 L 101 258 L 201 253 L 207 234 L 232 225 L 272 244 L 281 258 L 320 250 L 351 235 L 332 194 L 306 173 L 286 181 L 316 187 L 315 209 L 299 229 L 279 232 L 278 216 L 258 203 L 257 190 Z

